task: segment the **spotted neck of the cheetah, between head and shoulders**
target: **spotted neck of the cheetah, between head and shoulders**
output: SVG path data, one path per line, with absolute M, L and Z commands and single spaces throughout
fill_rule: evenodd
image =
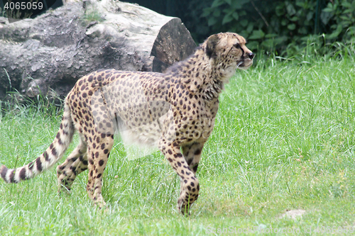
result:
M 197 49 L 187 60 L 170 67 L 166 74 L 179 78 L 193 94 L 201 94 L 203 99 L 209 101 L 218 99 L 224 89 L 224 82 L 227 81 L 217 69 L 214 60 L 209 59 L 202 49 Z

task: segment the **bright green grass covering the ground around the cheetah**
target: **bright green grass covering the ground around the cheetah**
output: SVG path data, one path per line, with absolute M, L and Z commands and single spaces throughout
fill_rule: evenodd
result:
M 217 228 L 247 227 L 315 235 L 317 227 L 354 227 L 354 60 L 261 60 L 225 90 L 190 217 L 175 210 L 180 183 L 162 154 L 128 161 L 116 141 L 104 174 L 106 210 L 89 201 L 87 172 L 70 196 L 58 196 L 53 168 L 17 185 L 0 181 L 1 235 L 207 235 L 212 228 L 219 235 Z M 33 160 L 59 123 L 54 110 L 35 106 L 1 113 L 0 163 Z M 297 209 L 302 218 L 282 217 Z

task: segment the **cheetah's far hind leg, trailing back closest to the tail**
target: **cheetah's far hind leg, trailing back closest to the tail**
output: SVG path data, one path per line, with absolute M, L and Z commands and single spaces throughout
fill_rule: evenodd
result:
M 72 183 L 78 174 L 87 169 L 87 145 L 80 139 L 65 162 L 57 167 L 58 191 L 69 193 Z

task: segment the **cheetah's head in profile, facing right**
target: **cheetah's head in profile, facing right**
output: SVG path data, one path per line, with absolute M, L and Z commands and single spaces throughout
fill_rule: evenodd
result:
M 253 64 L 254 54 L 245 44 L 246 40 L 241 35 L 218 33 L 209 36 L 202 47 L 218 73 L 229 78 L 236 69 L 248 69 Z

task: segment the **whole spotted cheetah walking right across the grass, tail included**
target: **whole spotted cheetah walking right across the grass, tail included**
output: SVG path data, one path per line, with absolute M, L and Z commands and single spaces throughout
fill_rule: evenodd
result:
M 236 33 L 218 33 L 164 73 L 100 69 L 87 74 L 67 95 L 60 129 L 47 150 L 23 167 L 1 166 L 2 179 L 18 183 L 50 169 L 77 130 L 79 144 L 57 167 L 59 191 L 70 191 L 75 177 L 88 170 L 87 193 L 102 207 L 102 174 L 115 131 L 123 130 L 164 154 L 180 176 L 177 208 L 185 215 L 199 196 L 196 172 L 214 128 L 219 94 L 236 69 L 253 64 L 254 54 L 245 44 Z

